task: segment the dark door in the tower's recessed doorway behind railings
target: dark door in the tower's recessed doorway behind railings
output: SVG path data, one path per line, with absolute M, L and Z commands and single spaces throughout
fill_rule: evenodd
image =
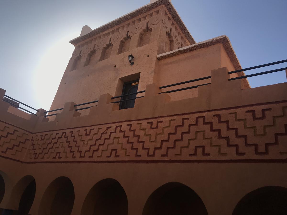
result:
M 139 80 L 129 81 L 129 82 L 124 83 L 122 95 L 136 93 L 138 86 L 139 86 Z M 121 100 L 126 100 L 126 99 L 131 99 L 131 100 L 121 102 L 120 109 L 127 109 L 127 108 L 134 107 L 135 97 L 137 97 L 137 94 L 123 96 Z

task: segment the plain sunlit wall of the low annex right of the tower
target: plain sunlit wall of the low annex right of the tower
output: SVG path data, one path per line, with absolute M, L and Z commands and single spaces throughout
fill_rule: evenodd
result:
M 229 71 L 234 70 L 223 45 L 218 43 L 214 46 L 208 46 L 206 48 L 197 49 L 192 52 L 160 60 L 156 67 L 156 83 L 158 83 L 159 86 L 165 86 L 183 81 L 199 79 L 210 76 L 212 68 L 220 67 L 227 67 Z M 232 74 L 230 77 L 238 77 L 238 75 Z M 210 83 L 210 79 L 168 87 L 163 89 L 163 91 L 191 87 L 205 83 Z M 180 91 L 175 92 L 170 94 L 170 98 L 171 101 L 176 101 L 185 98 L 197 97 L 197 91 L 198 89 L 196 88 L 185 90 L 185 93 Z

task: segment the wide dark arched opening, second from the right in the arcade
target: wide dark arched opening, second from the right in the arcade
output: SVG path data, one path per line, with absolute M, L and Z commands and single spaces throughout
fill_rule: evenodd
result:
M 142 215 L 207 215 L 201 198 L 186 185 L 170 182 L 156 189 L 146 201 Z

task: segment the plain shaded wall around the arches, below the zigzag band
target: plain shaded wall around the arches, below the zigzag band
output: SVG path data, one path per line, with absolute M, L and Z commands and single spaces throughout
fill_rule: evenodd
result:
M 283 163 L 75 163 L 20 164 L 0 158 L 1 170 L 7 173 L 6 192 L 24 176 L 36 181 L 36 196 L 29 214 L 38 214 L 41 198 L 57 177 L 71 179 L 75 203 L 71 215 L 81 214 L 84 199 L 100 180 L 113 178 L 121 184 L 128 200 L 128 215 L 141 215 L 144 205 L 161 185 L 171 181 L 183 183 L 201 198 L 209 215 L 230 215 L 247 193 L 268 185 L 287 187 L 286 164 Z M 10 171 L 10 169 L 15 171 Z M 44 177 L 43 177 L 44 175 Z M 251 180 L 252 179 L 252 180 Z M 20 195 L 20 194 L 19 194 Z M 17 202 L 18 203 L 18 202 Z M 7 206 L 10 205 L 10 206 Z M 111 203 L 112 204 L 112 203 Z M 9 195 L 0 208 L 13 209 Z

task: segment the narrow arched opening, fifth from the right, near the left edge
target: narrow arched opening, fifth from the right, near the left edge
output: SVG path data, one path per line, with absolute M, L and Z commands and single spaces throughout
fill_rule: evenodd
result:
M 24 176 L 13 187 L 7 204 L 7 207 L 11 210 L 5 210 L 5 212 L 7 214 L 28 215 L 34 202 L 35 193 L 36 181 L 34 177 L 31 175 Z

